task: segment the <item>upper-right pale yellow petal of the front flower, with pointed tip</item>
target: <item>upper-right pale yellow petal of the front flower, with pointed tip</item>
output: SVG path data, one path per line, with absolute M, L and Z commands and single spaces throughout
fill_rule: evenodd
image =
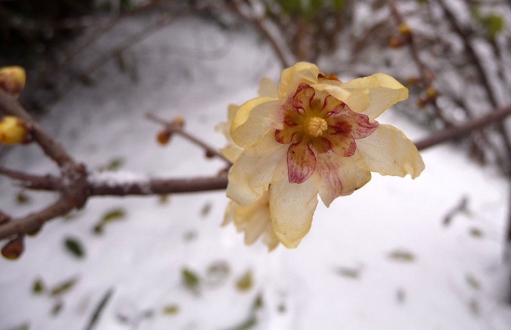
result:
M 376 118 L 394 104 L 408 98 L 408 89 L 385 73 L 375 73 L 340 84 L 352 94 L 342 101 L 351 110 Z M 335 95 L 334 95 L 335 96 Z

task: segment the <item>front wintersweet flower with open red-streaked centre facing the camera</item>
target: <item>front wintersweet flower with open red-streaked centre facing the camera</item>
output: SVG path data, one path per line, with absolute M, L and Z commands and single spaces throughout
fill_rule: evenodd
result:
M 309 232 L 318 194 L 329 207 L 364 186 L 370 172 L 414 179 L 424 169 L 403 132 L 375 120 L 408 97 L 387 74 L 342 83 L 299 62 L 265 95 L 234 114 L 230 136 L 243 151 L 229 171 L 227 196 L 246 207 L 268 194 L 272 229 L 286 247 Z

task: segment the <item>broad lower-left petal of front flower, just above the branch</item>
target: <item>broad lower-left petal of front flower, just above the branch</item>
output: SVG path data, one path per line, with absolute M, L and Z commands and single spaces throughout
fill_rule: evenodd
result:
M 287 177 L 289 145 L 275 141 L 275 130 L 248 146 L 229 171 L 227 197 L 242 206 L 259 199 L 268 185 Z

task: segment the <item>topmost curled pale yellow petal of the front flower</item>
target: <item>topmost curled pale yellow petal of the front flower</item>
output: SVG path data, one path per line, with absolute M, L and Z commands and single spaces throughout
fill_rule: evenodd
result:
M 278 97 L 281 100 L 286 100 L 289 96 L 294 95 L 299 84 L 317 83 L 318 74 L 318 67 L 308 62 L 298 62 L 282 70 L 281 81 L 278 83 Z

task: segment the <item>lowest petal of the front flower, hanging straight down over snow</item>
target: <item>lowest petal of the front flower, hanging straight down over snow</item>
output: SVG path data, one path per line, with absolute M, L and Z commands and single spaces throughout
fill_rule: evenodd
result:
M 287 248 L 298 246 L 309 232 L 318 204 L 317 193 L 312 180 L 296 184 L 285 179 L 270 186 L 273 230 Z

